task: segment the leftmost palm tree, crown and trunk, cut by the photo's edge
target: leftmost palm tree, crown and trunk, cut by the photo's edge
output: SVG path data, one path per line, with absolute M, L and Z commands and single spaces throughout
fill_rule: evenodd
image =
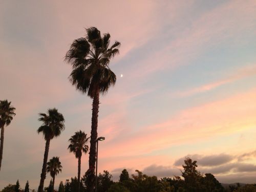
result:
M 16 115 L 14 111 L 15 111 L 15 108 L 11 106 L 11 102 L 8 102 L 8 100 L 0 101 L 0 129 L 1 129 L 0 170 L 1 170 L 2 159 L 3 159 L 5 125 L 8 126 L 11 123 L 13 116 Z

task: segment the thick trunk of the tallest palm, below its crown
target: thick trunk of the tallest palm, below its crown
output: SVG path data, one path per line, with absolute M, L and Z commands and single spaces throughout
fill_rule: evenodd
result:
M 92 113 L 92 129 L 89 152 L 89 169 L 88 169 L 88 188 L 89 192 L 94 191 L 95 187 L 95 162 L 96 162 L 96 140 L 98 127 L 98 112 L 99 112 L 99 89 L 95 91 L 93 97 L 93 113 Z

